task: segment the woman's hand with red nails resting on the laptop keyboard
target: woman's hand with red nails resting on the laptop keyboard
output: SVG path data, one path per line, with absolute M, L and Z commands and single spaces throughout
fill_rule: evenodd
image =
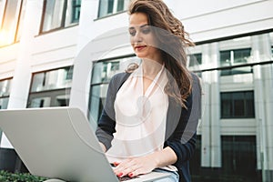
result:
M 135 177 L 140 174 L 147 174 L 157 167 L 154 157 L 134 157 L 128 158 L 121 163 L 114 163 L 114 172 L 117 177 Z

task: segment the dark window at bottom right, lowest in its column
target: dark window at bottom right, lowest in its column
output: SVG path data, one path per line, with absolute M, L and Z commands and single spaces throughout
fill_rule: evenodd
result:
M 221 136 L 221 142 L 220 174 L 229 176 L 227 181 L 262 181 L 257 170 L 256 136 Z

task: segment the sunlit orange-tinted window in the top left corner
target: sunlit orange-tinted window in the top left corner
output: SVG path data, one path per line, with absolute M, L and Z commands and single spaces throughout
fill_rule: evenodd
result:
M 0 46 L 11 45 L 20 40 L 25 17 L 25 3 L 26 0 L 0 1 L 0 8 L 1 5 L 5 7 L 2 25 L 0 26 Z

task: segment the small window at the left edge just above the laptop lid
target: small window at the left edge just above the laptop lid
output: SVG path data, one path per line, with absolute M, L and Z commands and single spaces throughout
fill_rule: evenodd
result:
M 0 109 L 7 108 L 12 79 L 0 80 Z

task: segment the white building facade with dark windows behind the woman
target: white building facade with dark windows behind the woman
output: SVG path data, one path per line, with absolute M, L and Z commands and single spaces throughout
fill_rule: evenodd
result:
M 272 181 L 273 1 L 165 2 L 196 43 L 188 68 L 202 78 L 193 181 Z M 0 109 L 76 106 L 96 128 L 111 76 L 140 62 L 128 3 L 0 0 Z M 0 136 L 0 167 L 26 171 Z

